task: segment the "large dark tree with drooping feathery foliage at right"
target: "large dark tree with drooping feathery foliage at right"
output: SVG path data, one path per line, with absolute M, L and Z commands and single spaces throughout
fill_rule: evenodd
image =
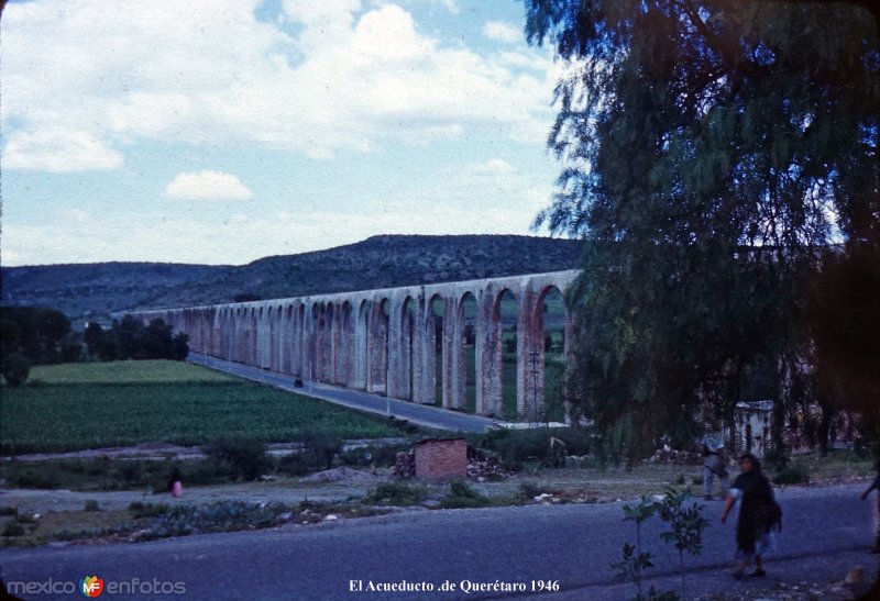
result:
M 801 319 L 822 249 L 880 240 L 871 14 L 525 4 L 529 41 L 564 62 L 549 138 L 564 168 L 537 221 L 586 243 L 569 298 L 581 407 L 635 454 L 698 402 L 729 416 L 746 380 L 765 398 L 805 394 L 793 374 L 812 346 Z M 744 378 L 767 366 L 773 378 Z

